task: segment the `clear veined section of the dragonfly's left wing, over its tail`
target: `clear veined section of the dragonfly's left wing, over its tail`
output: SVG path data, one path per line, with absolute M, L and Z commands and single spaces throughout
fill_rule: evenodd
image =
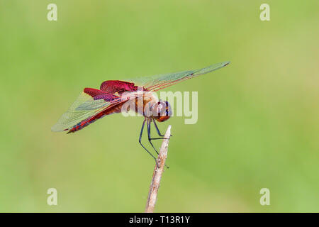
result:
M 99 114 L 101 111 L 107 109 L 111 104 L 116 104 L 123 101 L 122 98 L 114 99 L 112 101 L 105 101 L 104 99 L 94 100 L 92 96 L 82 92 L 72 106 L 67 109 L 65 114 L 52 126 L 52 131 L 67 131 L 77 123 Z

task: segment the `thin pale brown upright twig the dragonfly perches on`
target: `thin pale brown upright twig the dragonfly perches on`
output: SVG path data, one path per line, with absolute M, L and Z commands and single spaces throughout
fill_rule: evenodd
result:
M 159 183 L 161 182 L 162 174 L 164 172 L 165 160 L 167 158 L 167 148 L 169 143 L 169 138 L 171 136 L 171 126 L 168 126 L 167 131 L 164 136 L 162 147 L 159 150 L 159 155 L 157 157 L 157 164 L 155 165 L 152 182 L 150 184 L 150 192 L 147 196 L 147 203 L 145 208 L 145 213 L 153 213 L 156 200 L 157 192 L 159 189 Z

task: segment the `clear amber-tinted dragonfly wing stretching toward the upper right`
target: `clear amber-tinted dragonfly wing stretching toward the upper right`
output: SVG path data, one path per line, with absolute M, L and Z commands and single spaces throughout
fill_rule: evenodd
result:
M 156 92 L 159 89 L 164 89 L 165 87 L 172 86 L 178 82 L 182 82 L 186 79 L 191 79 L 193 77 L 198 77 L 201 74 L 206 74 L 208 72 L 213 72 L 222 67 L 225 67 L 230 62 L 220 62 L 200 70 L 189 70 L 184 72 L 173 72 L 168 74 L 159 74 L 151 77 L 140 77 L 136 79 L 126 79 L 128 82 L 133 82 L 135 85 L 144 87 L 150 92 Z

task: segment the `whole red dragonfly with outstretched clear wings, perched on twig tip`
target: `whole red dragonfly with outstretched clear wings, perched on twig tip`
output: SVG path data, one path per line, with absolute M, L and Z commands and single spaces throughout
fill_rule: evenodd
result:
M 133 110 L 145 117 L 140 131 L 139 143 L 142 145 L 142 132 L 146 123 L 148 140 L 157 153 L 157 150 L 152 144 L 152 140 L 162 139 L 164 135 L 159 132 L 156 121 L 167 121 L 172 115 L 172 109 L 168 101 L 158 100 L 157 96 L 152 92 L 157 92 L 160 89 L 164 89 L 186 79 L 191 79 L 201 74 L 218 70 L 229 63 L 230 62 L 220 62 L 200 70 L 160 74 L 152 77 L 128 79 L 125 81 L 106 80 L 101 84 L 100 89 L 85 88 L 72 106 L 69 107 L 67 112 L 61 116 L 54 126 L 52 126 L 52 131 L 67 131 L 67 133 L 77 132 L 103 116 L 129 111 L 129 106 L 131 105 L 128 105 L 128 102 L 130 102 L 130 104 L 133 102 L 133 104 L 135 104 L 135 109 Z M 142 108 L 138 108 L 138 100 L 140 99 L 142 99 Z M 154 123 L 160 138 L 151 138 L 151 123 Z M 144 145 L 142 145 L 142 147 L 147 153 L 152 155 Z M 152 155 L 152 157 L 154 156 Z M 156 162 L 155 157 L 154 159 Z

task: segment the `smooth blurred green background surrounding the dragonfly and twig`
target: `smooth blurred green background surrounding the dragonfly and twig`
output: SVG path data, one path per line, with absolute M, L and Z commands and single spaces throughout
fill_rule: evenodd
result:
M 144 211 L 154 161 L 138 144 L 142 118 L 114 114 L 71 135 L 51 126 L 84 87 L 225 60 L 166 89 L 198 91 L 198 123 L 159 124 L 174 137 L 156 211 L 319 211 L 318 6 L 0 0 L 0 211 Z

